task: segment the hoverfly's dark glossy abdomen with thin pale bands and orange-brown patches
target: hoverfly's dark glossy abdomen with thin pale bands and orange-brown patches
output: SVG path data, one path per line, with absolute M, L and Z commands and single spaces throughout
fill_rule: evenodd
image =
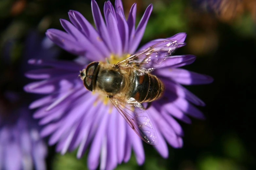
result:
M 138 102 L 151 102 L 162 96 L 164 86 L 162 82 L 154 75 L 145 74 L 135 75 L 131 97 Z

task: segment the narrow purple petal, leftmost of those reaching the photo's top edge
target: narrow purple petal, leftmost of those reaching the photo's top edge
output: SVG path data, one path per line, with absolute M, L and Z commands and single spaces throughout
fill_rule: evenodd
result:
M 97 28 L 99 34 L 100 34 L 100 37 L 106 43 L 106 45 L 108 46 L 110 51 L 113 51 L 114 47 L 111 44 L 111 39 L 110 39 L 108 30 L 107 30 L 104 20 L 102 18 L 98 4 L 96 3 L 95 0 L 92 0 L 92 12 L 93 12 L 94 23 L 96 25 L 96 28 Z

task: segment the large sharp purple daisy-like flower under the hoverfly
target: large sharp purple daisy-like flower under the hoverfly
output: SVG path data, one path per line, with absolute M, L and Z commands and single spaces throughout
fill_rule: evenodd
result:
M 75 61 L 30 59 L 29 64 L 47 68 L 26 73 L 28 78 L 43 80 L 26 85 L 25 91 L 45 94 L 29 107 L 38 108 L 34 118 L 40 119 L 39 123 L 44 125 L 41 135 L 50 135 L 49 144 L 57 143 L 57 151 L 64 154 L 78 147 L 77 158 L 81 158 L 89 149 L 89 169 L 96 169 L 99 163 L 100 169 L 114 169 L 117 164 L 128 162 L 132 149 L 138 164 L 142 164 L 145 155 L 140 137 L 116 109 L 111 110 L 109 99 L 88 91 L 78 75 L 89 62 L 106 62 L 108 58 L 114 64 L 134 54 L 144 34 L 152 5 L 146 8 L 136 29 L 136 4 L 131 7 L 127 20 L 121 0 L 115 1 L 115 8 L 110 1 L 105 2 L 105 22 L 94 0 L 92 11 L 96 30 L 73 10 L 68 12 L 72 23 L 60 20 L 66 32 L 47 30 L 46 35 L 53 42 L 80 57 Z M 185 45 L 185 37 L 185 33 L 179 33 L 167 39 L 176 41 L 176 48 L 179 48 Z M 162 40 L 150 41 L 140 50 Z M 154 147 L 164 158 L 168 157 L 167 143 L 174 148 L 183 145 L 183 131 L 176 119 L 191 123 L 188 115 L 204 118 L 201 111 L 192 105 L 204 106 L 203 101 L 180 85 L 213 81 L 209 76 L 178 68 L 193 63 L 195 59 L 194 55 L 172 56 L 152 73 L 162 80 L 166 88 L 163 97 L 152 102 L 147 109 L 158 135 L 158 145 Z

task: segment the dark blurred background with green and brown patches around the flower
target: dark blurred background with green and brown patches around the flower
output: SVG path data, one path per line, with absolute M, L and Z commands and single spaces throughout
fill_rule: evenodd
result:
M 193 119 L 190 125 L 180 122 L 185 133 L 182 149 L 169 147 L 169 158 L 163 159 L 153 147 L 145 144 L 144 165 L 138 166 L 132 155 L 128 163 L 118 165 L 117 169 L 256 169 L 256 1 L 222 0 L 219 7 L 202 5 L 202 1 L 123 2 L 126 16 L 131 5 L 137 2 L 137 23 L 146 7 L 153 4 L 141 45 L 156 38 L 186 32 L 187 45 L 176 54 L 196 55 L 196 61 L 184 68 L 210 75 L 214 82 L 186 87 L 206 103 L 205 107 L 200 107 L 206 120 Z M 97 2 L 103 11 L 104 1 Z M 37 32 L 43 37 L 48 28 L 63 30 L 59 19 L 69 20 L 67 12 L 70 9 L 81 12 L 93 23 L 89 0 L 1 0 L 1 75 L 7 70 L 26 67 L 20 64 L 28 57 L 24 56 L 27 36 Z M 71 60 L 75 56 L 61 50 L 59 58 Z M 1 80 L 1 93 L 9 88 L 21 92 L 24 83 L 15 79 L 15 74 L 9 78 L 8 82 L 15 83 L 12 87 Z M 50 147 L 47 166 L 57 170 L 86 169 L 86 154 L 80 160 L 75 155 L 76 151 L 62 156 Z

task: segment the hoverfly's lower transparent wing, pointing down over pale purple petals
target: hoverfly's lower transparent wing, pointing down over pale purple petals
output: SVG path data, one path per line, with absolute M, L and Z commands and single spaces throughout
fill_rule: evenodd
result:
M 157 145 L 157 136 L 144 107 L 134 98 L 123 101 L 115 97 L 109 97 L 113 105 L 124 117 L 130 127 L 148 144 Z

